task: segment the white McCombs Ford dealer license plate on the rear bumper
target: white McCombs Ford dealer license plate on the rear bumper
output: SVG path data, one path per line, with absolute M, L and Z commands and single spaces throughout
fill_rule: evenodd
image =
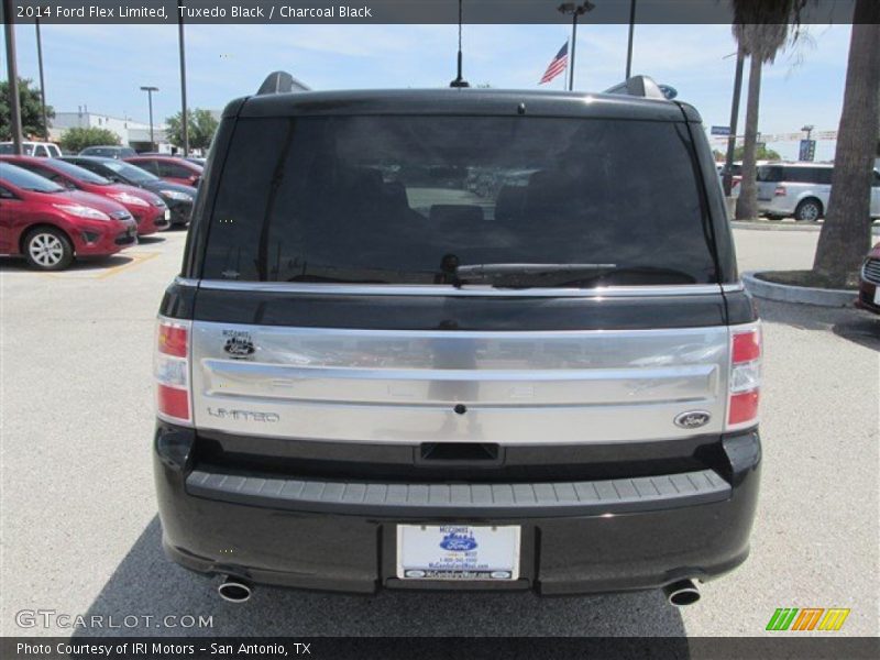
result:
M 398 525 L 400 580 L 519 579 L 518 525 Z

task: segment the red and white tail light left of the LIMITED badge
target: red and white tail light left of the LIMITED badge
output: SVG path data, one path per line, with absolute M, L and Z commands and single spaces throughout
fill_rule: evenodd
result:
M 160 317 L 156 326 L 154 376 L 156 409 L 166 421 L 190 425 L 189 321 Z

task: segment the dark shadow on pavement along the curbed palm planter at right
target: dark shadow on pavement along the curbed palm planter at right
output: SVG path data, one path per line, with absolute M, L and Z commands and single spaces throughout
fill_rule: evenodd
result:
M 880 351 L 880 316 L 869 311 L 855 307 L 818 307 L 759 299 L 758 312 L 761 319 L 771 323 L 833 332 L 840 339 Z

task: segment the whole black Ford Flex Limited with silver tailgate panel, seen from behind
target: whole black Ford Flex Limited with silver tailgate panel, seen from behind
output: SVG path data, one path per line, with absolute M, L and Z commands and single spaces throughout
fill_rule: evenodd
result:
M 223 112 L 158 317 L 173 560 L 235 601 L 684 604 L 746 559 L 760 327 L 692 107 L 642 77 L 265 87 Z

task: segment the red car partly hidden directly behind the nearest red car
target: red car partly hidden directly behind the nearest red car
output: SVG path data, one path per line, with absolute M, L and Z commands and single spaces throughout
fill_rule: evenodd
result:
M 69 190 L 85 190 L 107 197 L 124 206 L 138 223 L 138 235 L 145 237 L 170 226 L 170 211 L 162 198 L 148 190 L 113 184 L 102 176 L 56 158 L 33 156 L 0 156 L 0 162 L 12 163 L 33 172 Z

